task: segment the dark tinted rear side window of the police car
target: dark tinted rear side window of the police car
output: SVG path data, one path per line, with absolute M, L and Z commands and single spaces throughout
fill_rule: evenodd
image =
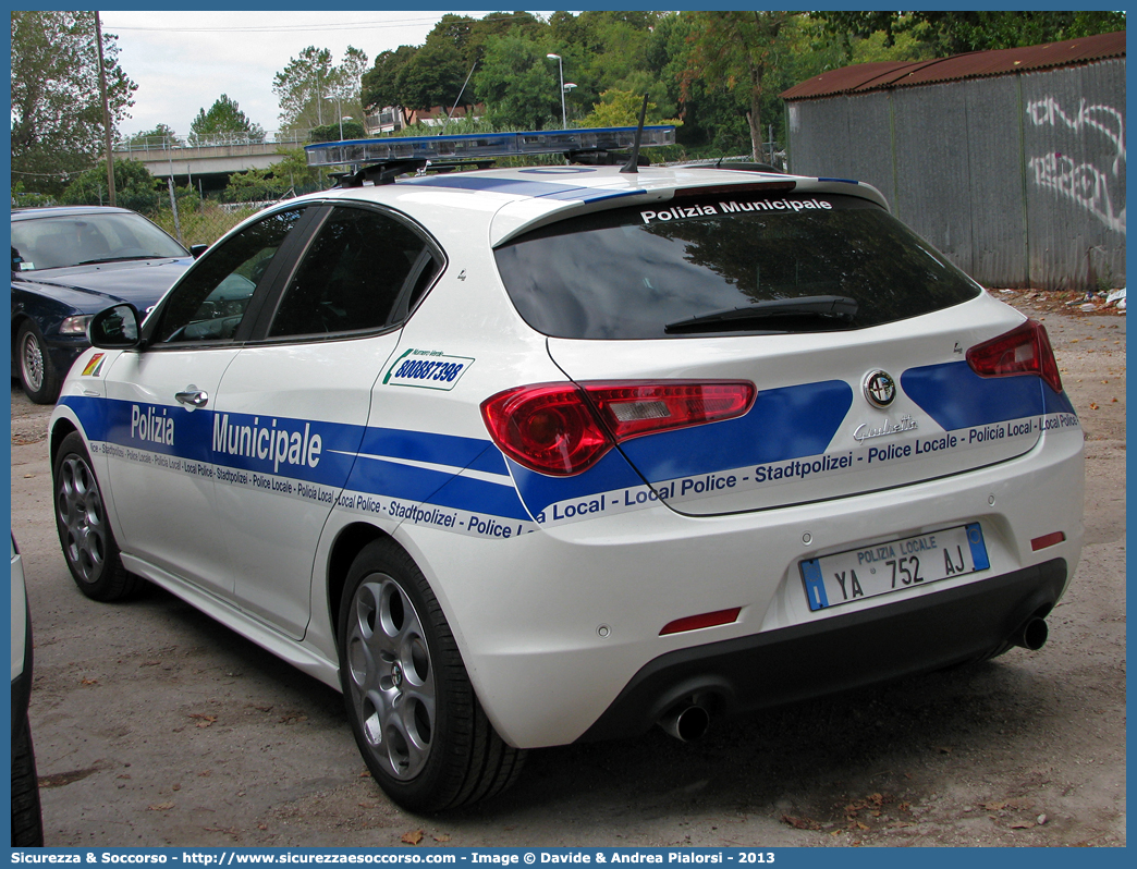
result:
M 439 267 L 431 247 L 406 224 L 379 212 L 339 207 L 284 291 L 268 337 L 398 323 L 410 296 L 421 296 Z

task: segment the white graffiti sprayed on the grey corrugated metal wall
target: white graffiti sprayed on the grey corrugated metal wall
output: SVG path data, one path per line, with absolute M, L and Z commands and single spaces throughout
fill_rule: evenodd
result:
M 1097 220 L 1120 233 L 1126 231 L 1124 162 L 1126 121 L 1111 106 L 1087 105 L 1081 100 L 1078 110 L 1069 114 L 1054 97 L 1044 97 L 1027 105 L 1027 117 L 1035 126 L 1064 127 L 1081 139 L 1104 136 L 1109 143 L 1112 163 L 1102 168 L 1093 163 L 1079 163 L 1061 151 L 1052 151 L 1030 159 L 1035 183 L 1054 190 L 1073 200 Z M 1114 208 L 1114 200 L 1121 204 Z

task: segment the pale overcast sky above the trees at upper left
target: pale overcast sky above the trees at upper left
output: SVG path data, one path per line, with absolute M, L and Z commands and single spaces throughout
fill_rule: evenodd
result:
M 375 56 L 421 45 L 441 11 L 103 11 L 102 30 L 118 36 L 118 63 L 139 89 L 123 135 L 166 124 L 190 132 L 200 109 L 225 93 L 266 131 L 280 129 L 273 76 L 308 45 L 333 63 L 348 45 Z M 462 13 L 480 18 L 487 13 Z M 334 114 L 334 108 L 332 108 Z

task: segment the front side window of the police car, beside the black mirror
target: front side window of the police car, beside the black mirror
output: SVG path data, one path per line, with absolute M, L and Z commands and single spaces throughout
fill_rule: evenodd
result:
M 163 306 L 152 344 L 231 340 L 302 210 L 271 215 L 206 254 Z

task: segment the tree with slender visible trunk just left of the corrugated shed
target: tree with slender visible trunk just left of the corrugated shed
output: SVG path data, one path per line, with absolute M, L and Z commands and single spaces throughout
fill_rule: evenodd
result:
M 750 131 L 750 156 L 762 159 L 762 101 L 766 76 L 778 64 L 788 60 L 787 41 L 781 31 L 794 13 L 731 11 L 694 13 L 691 50 L 682 72 L 683 99 L 695 82 L 708 90 L 745 89 L 746 122 Z

